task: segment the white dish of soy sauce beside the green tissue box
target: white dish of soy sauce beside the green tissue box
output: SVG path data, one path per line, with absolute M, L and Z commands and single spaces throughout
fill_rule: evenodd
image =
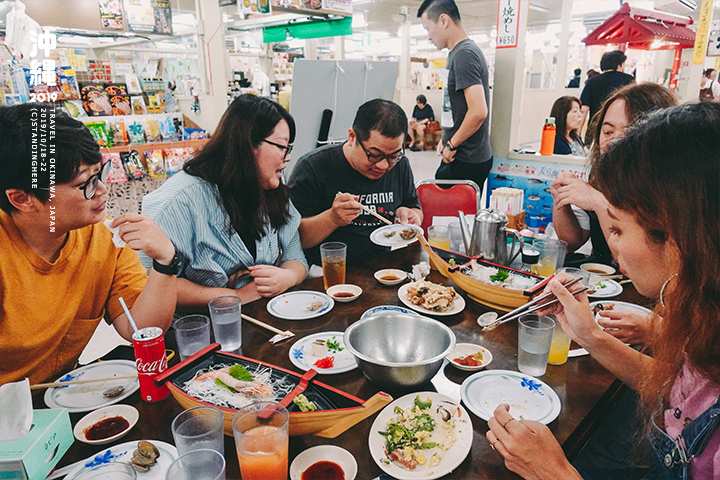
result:
M 130 405 L 110 405 L 88 413 L 73 428 L 75 438 L 91 445 L 104 445 L 122 438 L 140 414 Z

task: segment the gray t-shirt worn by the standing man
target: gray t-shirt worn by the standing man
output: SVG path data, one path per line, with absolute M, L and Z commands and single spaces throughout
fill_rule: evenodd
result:
M 490 108 L 488 68 L 480 47 L 472 40 L 465 39 L 455 45 L 447 59 L 448 78 L 443 94 L 443 142 L 457 132 L 467 113 L 464 90 L 473 85 L 482 85 L 485 103 Z M 484 163 L 492 159 L 490 148 L 489 118 L 467 140 L 458 146 L 455 160 L 466 163 Z

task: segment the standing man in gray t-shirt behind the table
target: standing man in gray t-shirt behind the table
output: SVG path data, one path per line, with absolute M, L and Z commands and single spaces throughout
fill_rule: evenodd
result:
M 443 85 L 443 141 L 438 144 L 442 163 L 435 178 L 469 179 L 482 188 L 492 167 L 485 57 L 465 33 L 453 0 L 425 0 L 418 17 L 430 41 L 439 50 L 450 50 Z

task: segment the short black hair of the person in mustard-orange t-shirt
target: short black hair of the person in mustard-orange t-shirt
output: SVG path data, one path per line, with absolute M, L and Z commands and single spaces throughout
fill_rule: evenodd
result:
M 47 121 L 44 129 L 43 120 Z M 42 130 L 55 147 L 55 153 L 48 152 L 45 162 L 38 158 L 37 149 Z M 50 192 L 44 189 L 51 181 L 53 185 L 69 183 L 83 165 L 95 165 L 101 160 L 100 146 L 90 130 L 60 108 L 45 103 L 0 107 L 0 208 L 5 212 L 16 210 L 6 190 L 22 190 L 47 202 Z

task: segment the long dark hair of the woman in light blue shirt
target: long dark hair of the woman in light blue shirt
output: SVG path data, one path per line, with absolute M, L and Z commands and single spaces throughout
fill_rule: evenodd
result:
M 285 120 L 290 142 L 295 139 L 295 121 L 278 103 L 256 95 L 240 95 L 228 106 L 215 134 L 188 160 L 183 169 L 190 175 L 217 186 L 218 204 L 230 218 L 233 229 L 243 238 L 259 240 L 268 219 L 280 228 L 290 219 L 288 187 L 281 183 L 263 190 L 258 182 L 254 150 Z

